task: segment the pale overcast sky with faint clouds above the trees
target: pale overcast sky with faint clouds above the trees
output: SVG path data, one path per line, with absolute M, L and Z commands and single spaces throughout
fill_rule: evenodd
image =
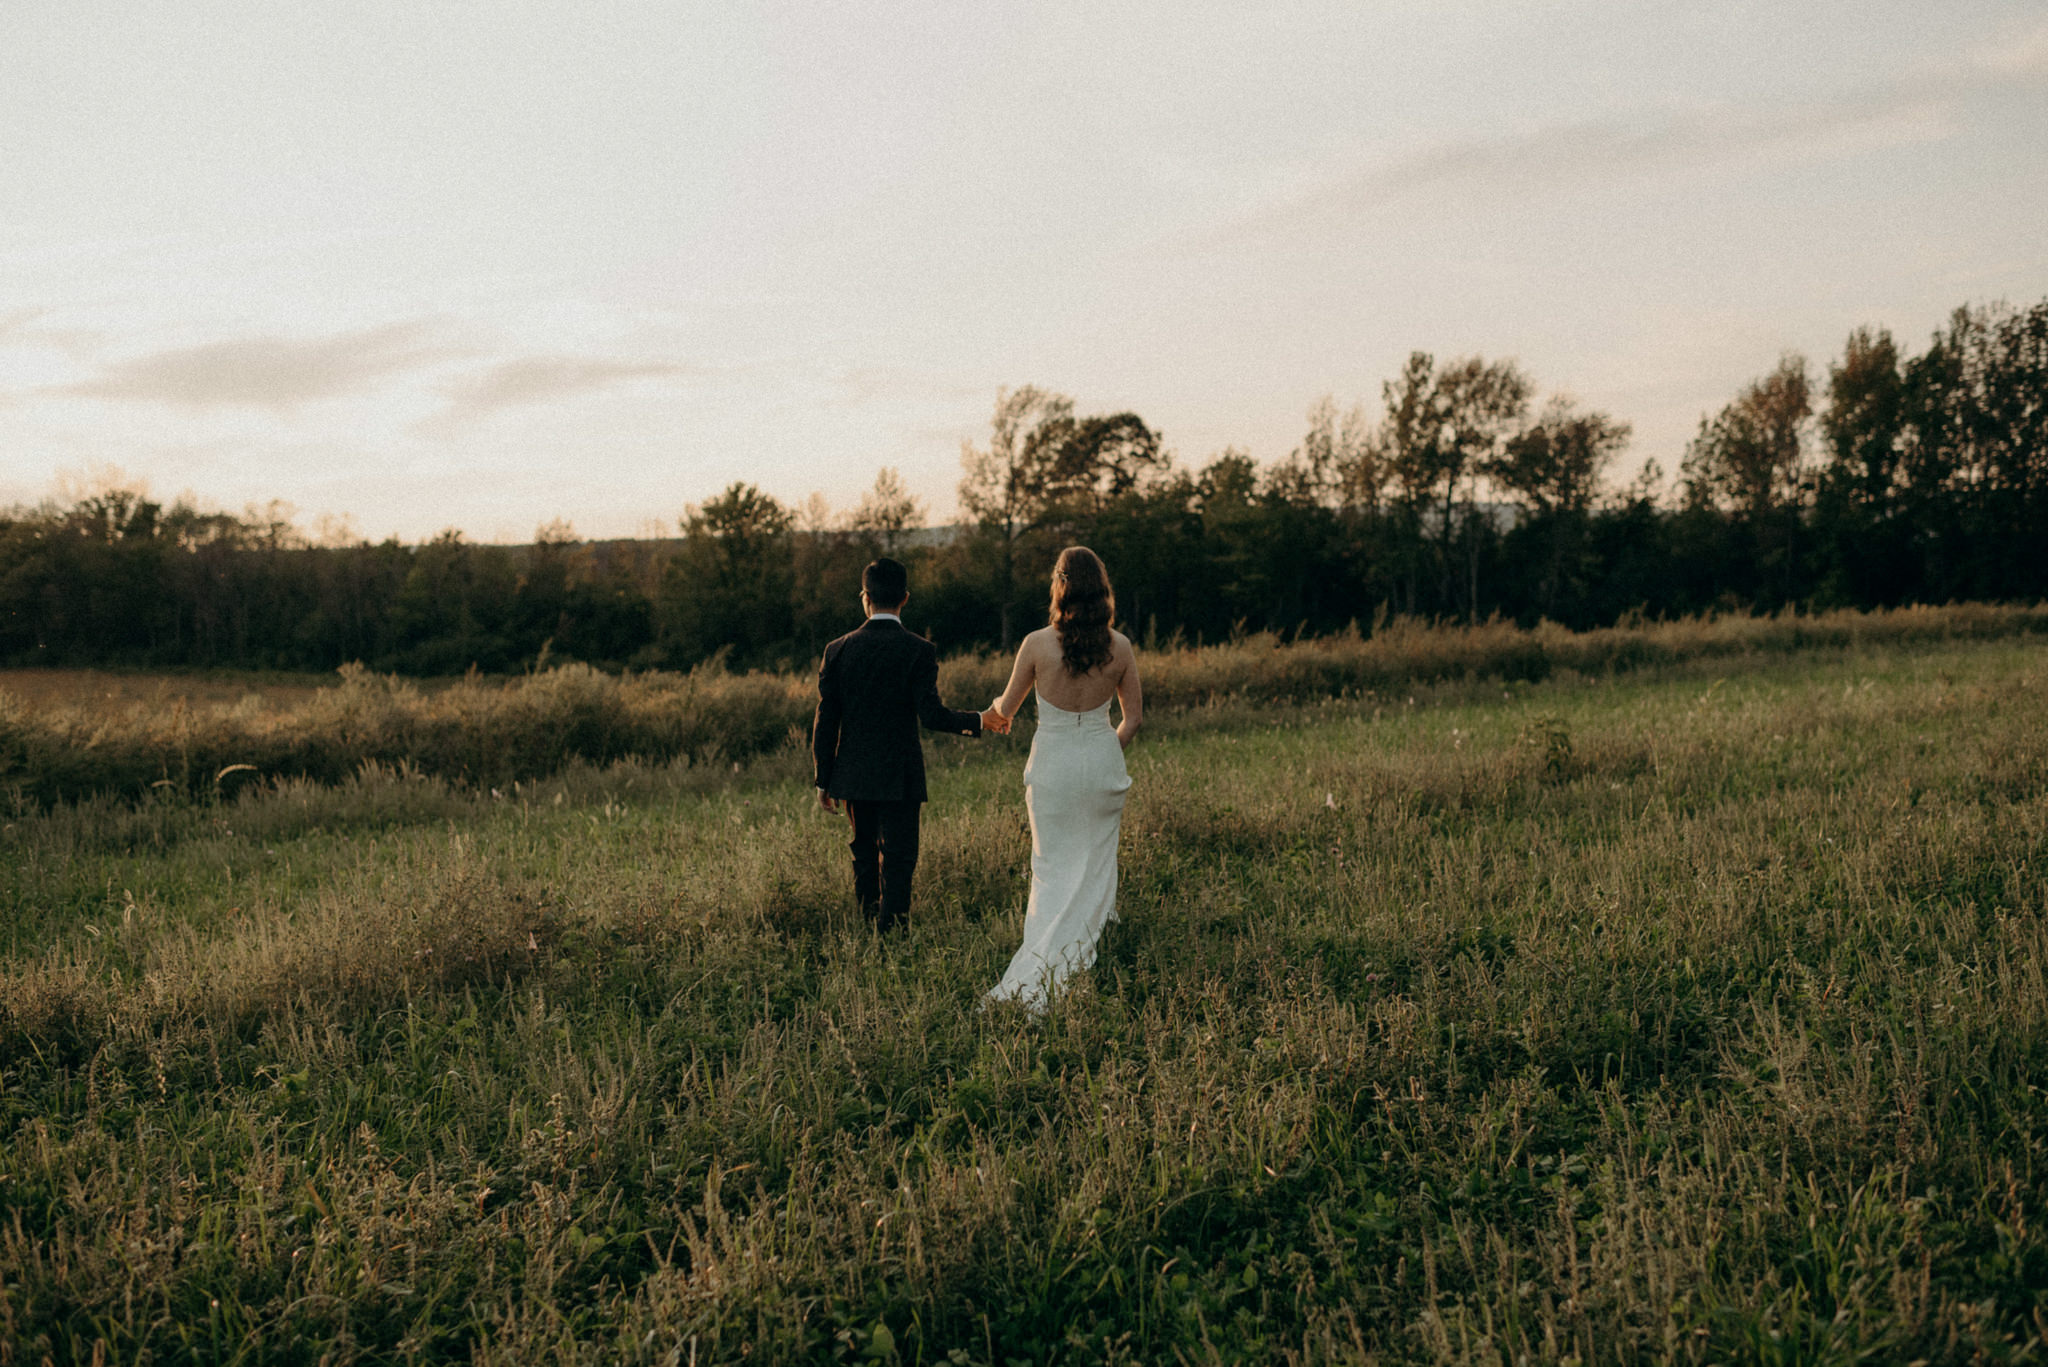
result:
M 1415 348 L 1675 469 L 2044 221 L 2042 2 L 4 0 L 0 504 L 946 521 L 1001 385 L 1278 459 Z

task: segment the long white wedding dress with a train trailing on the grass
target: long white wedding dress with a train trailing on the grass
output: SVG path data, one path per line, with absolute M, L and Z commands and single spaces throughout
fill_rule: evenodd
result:
M 1096 961 L 1096 941 L 1116 920 L 1116 836 L 1128 787 L 1110 703 L 1063 711 L 1038 697 L 1038 734 L 1024 764 L 1030 904 L 1024 943 L 991 1000 L 1044 1010 L 1061 982 Z

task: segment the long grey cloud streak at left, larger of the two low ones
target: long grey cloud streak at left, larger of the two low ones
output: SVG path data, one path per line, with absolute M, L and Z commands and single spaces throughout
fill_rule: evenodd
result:
M 115 361 L 57 391 L 180 408 L 272 408 L 346 398 L 457 350 L 434 322 L 393 322 L 317 338 L 250 336 Z

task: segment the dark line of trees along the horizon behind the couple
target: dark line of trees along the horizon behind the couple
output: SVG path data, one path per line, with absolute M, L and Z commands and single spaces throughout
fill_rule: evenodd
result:
M 276 512 L 111 490 L 0 512 L 0 660 L 803 666 L 879 553 L 911 568 L 915 629 L 1008 648 L 1073 541 L 1151 639 L 2048 596 L 2048 301 L 1960 307 L 1917 355 L 1858 328 L 1823 375 L 1782 357 L 1702 418 L 1671 494 L 1655 461 L 1612 478 L 1628 439 L 1513 361 L 1415 353 L 1378 404 L 1317 402 L 1270 463 L 1233 447 L 1184 465 L 1139 414 L 1006 389 L 946 529 L 920 527 L 891 469 L 842 514 L 733 484 L 676 537 L 555 523 L 524 547 L 313 545 Z

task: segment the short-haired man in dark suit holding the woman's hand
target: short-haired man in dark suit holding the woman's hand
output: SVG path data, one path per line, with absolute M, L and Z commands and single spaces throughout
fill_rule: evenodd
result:
M 854 898 L 877 930 L 909 914 L 926 799 L 918 723 L 958 736 L 1010 730 L 999 711 L 952 711 L 938 699 L 938 650 L 903 625 L 905 600 L 909 574 L 901 564 L 883 557 L 860 572 L 868 621 L 825 646 L 811 726 L 817 801 L 825 812 L 846 803 Z

